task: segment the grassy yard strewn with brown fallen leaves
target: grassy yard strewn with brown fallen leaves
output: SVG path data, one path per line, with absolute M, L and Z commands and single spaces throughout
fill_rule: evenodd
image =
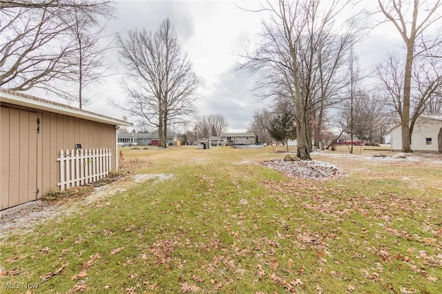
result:
M 442 156 L 365 148 L 312 154 L 327 180 L 262 166 L 269 146 L 122 148 L 135 174 L 0 232 L 1 289 L 440 293 Z

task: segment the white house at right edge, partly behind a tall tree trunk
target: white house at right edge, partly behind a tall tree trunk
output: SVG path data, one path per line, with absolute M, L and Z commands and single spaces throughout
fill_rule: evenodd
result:
M 402 150 L 401 125 L 390 129 L 392 149 Z M 414 124 L 411 148 L 413 151 L 442 153 L 442 115 L 421 115 Z

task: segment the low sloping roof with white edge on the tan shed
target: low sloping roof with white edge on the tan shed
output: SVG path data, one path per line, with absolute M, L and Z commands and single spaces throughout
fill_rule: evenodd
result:
M 111 124 L 114 126 L 133 126 L 128 121 L 115 119 L 113 117 L 107 117 L 106 115 L 99 115 L 98 113 L 91 112 L 61 104 L 55 101 L 50 101 L 35 97 L 32 95 L 24 94 L 22 92 L 12 91 L 0 88 L 0 102 L 1 104 L 12 104 L 16 106 L 23 106 L 27 108 L 33 108 L 37 110 L 46 110 L 50 112 L 59 113 L 61 115 L 69 115 L 71 117 L 79 117 L 80 119 L 87 119 L 90 121 L 98 121 L 104 124 Z

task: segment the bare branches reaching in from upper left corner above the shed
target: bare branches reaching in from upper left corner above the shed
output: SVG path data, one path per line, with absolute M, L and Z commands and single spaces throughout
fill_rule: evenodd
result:
M 63 79 L 77 50 L 71 32 L 74 13 L 105 15 L 110 1 L 1 1 L 0 86 L 11 90 L 46 88 Z

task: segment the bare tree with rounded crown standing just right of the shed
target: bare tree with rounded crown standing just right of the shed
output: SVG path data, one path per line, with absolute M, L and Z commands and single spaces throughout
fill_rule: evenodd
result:
M 169 124 L 185 123 L 194 113 L 198 79 L 169 19 L 155 32 L 130 30 L 117 41 L 128 73 L 128 99 L 119 108 L 148 121 L 166 148 Z

